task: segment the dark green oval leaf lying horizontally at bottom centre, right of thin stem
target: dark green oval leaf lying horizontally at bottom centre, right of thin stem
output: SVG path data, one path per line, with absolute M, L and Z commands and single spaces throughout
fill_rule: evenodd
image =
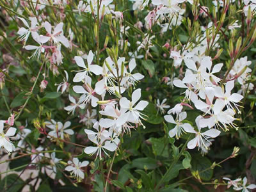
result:
M 159 167 L 156 159 L 149 157 L 134 159 L 131 164 L 132 168 L 139 168 L 141 170 L 152 170 Z

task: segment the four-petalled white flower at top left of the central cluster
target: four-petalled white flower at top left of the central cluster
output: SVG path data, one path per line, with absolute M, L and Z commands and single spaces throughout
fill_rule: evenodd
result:
M 79 67 L 82 67 L 84 69 L 78 71 L 78 73 L 76 74 L 76 76 L 73 79 L 74 82 L 82 81 L 82 82 L 86 83 L 88 73 L 90 73 L 90 72 L 93 72 L 93 74 L 95 74 L 96 76 L 99 76 L 100 74 L 102 74 L 102 67 L 100 67 L 99 65 L 92 65 L 93 57 L 94 57 L 93 52 L 89 51 L 89 54 L 87 56 L 88 67 L 86 67 L 84 64 L 83 58 L 81 56 L 75 56 L 76 64 Z

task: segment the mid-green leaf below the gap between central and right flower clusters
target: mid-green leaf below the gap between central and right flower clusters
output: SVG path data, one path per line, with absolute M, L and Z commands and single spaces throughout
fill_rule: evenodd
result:
M 164 138 L 150 138 L 148 141 L 152 143 L 153 153 L 156 156 L 169 157 L 168 144 L 164 145 Z

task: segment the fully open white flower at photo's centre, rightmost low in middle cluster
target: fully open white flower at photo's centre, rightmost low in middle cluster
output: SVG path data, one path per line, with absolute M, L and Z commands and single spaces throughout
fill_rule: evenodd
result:
M 125 122 L 132 122 L 134 124 L 141 124 L 141 120 L 145 119 L 143 118 L 143 115 L 140 111 L 143 111 L 143 109 L 145 109 L 148 105 L 148 102 L 145 100 L 141 100 L 140 102 L 138 102 L 138 100 L 141 97 L 141 89 L 137 89 L 132 93 L 132 101 L 128 100 L 125 97 L 122 97 L 120 99 L 120 107 L 121 110 L 124 110 L 125 113 L 123 115 L 121 115 L 117 122 L 116 125 L 123 125 L 125 124 Z M 134 104 L 136 104 L 136 102 L 138 102 L 138 104 L 134 107 Z M 143 127 L 145 128 L 145 126 L 143 125 Z

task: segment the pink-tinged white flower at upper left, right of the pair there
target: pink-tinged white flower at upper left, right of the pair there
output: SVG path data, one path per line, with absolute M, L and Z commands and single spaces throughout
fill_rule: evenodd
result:
M 45 21 L 44 22 L 44 28 L 47 31 L 47 37 L 48 40 L 53 40 L 54 44 L 58 44 L 60 42 L 63 44 L 65 47 L 69 47 L 69 42 L 68 39 L 63 35 L 63 22 L 60 22 L 59 24 L 56 25 L 54 28 L 54 31 L 52 33 L 52 26 L 49 22 Z

